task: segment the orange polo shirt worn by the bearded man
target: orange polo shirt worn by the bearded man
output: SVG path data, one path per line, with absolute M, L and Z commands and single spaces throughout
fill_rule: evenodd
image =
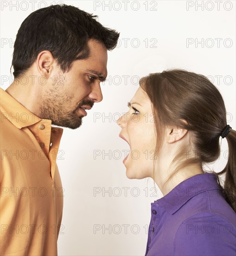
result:
M 57 255 L 63 187 L 57 168 L 62 128 L 0 88 L 0 255 Z

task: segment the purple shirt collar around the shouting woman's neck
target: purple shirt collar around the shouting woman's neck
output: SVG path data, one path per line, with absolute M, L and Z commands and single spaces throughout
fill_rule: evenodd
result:
M 174 214 L 193 196 L 213 189 L 221 189 L 217 182 L 217 174 L 198 174 L 179 183 L 167 195 L 154 201 L 154 203 Z

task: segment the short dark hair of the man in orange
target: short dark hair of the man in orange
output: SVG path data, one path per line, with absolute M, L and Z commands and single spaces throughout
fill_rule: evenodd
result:
M 50 51 L 65 72 L 73 61 L 89 57 L 89 39 L 102 42 L 107 50 L 114 49 L 119 33 L 103 27 L 96 17 L 68 5 L 49 6 L 31 13 L 22 22 L 14 43 L 14 77 L 24 74 L 43 50 Z

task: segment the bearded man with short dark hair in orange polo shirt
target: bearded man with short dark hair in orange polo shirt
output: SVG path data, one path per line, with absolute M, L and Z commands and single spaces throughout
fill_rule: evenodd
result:
M 102 101 L 107 50 L 119 34 L 67 5 L 39 9 L 16 36 L 14 81 L 0 88 L 0 255 L 57 255 L 62 128 Z

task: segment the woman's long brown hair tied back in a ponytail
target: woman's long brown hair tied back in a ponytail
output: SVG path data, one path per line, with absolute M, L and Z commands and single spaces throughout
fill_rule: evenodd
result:
M 219 90 L 204 75 L 180 69 L 166 70 L 141 78 L 140 87 L 153 104 L 158 133 L 156 153 L 162 145 L 166 126 L 191 132 L 189 144 L 180 148 L 172 161 L 175 166 L 172 176 L 185 166 L 198 164 L 203 168 L 205 163 L 217 160 L 219 138 L 227 126 L 226 109 Z M 236 211 L 236 131 L 231 129 L 225 138 L 229 146 L 228 162 L 216 175 L 225 200 Z M 195 157 L 188 158 L 188 155 Z M 222 174 L 225 175 L 223 184 L 219 179 Z

